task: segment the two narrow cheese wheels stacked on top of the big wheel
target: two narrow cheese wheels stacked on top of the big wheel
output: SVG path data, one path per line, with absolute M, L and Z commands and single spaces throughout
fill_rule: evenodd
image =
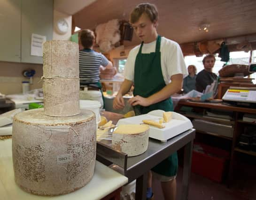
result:
M 79 49 L 69 41 L 47 41 L 43 48 L 45 114 L 66 117 L 79 109 Z

